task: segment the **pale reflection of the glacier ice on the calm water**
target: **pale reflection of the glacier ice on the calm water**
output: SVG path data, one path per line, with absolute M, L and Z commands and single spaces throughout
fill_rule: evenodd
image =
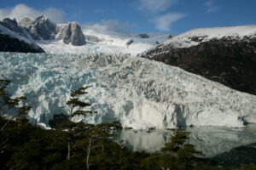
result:
M 187 127 L 189 144 L 194 144 L 197 150 L 212 157 L 229 152 L 230 150 L 247 144 L 256 143 L 256 125 L 251 124 L 243 128 L 230 127 Z M 169 130 L 120 130 L 113 138 L 114 141 L 125 144 L 131 150 L 160 151 L 169 136 Z

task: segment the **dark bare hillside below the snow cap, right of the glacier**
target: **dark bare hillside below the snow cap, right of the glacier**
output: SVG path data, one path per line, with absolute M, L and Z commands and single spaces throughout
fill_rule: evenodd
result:
M 200 38 L 193 39 L 200 41 Z M 256 94 L 256 37 L 224 37 L 189 48 L 160 44 L 141 57 L 180 67 L 241 92 Z

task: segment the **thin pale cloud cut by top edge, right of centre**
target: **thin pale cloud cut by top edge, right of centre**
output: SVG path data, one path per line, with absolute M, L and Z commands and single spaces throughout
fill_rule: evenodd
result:
M 160 13 L 166 11 L 175 4 L 177 0 L 138 0 L 138 9 L 146 10 L 150 13 Z

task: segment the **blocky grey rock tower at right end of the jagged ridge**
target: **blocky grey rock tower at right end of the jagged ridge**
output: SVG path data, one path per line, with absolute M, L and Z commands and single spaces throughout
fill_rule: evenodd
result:
M 56 28 L 56 38 L 63 39 L 65 43 L 75 46 L 85 45 L 85 37 L 81 27 L 77 22 L 69 22 L 65 25 L 58 25 Z

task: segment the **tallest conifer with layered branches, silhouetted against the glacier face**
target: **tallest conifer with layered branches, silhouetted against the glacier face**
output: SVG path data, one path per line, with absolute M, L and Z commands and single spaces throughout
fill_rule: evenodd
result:
M 120 127 L 117 123 L 93 125 L 84 122 L 73 122 L 73 117 L 88 116 L 97 113 L 96 111 L 85 110 L 87 107 L 90 107 L 91 104 L 79 99 L 81 95 L 88 94 L 88 92 L 86 92 L 88 88 L 90 88 L 90 86 L 79 88 L 70 94 L 71 99 L 67 101 L 67 105 L 70 108 L 68 121 L 59 126 L 62 132 L 63 130 L 67 132 L 62 133 L 66 135 L 65 138 L 67 139 L 67 161 L 71 160 L 71 158 L 76 155 L 84 155 L 84 163 L 87 170 L 93 165 L 93 159 L 91 158 L 93 152 L 96 150 L 103 151 L 103 139 L 113 135 L 108 132 L 108 129 L 111 127 Z M 79 153 L 76 153 L 76 150 L 79 150 Z M 85 154 L 80 153 L 81 151 Z

